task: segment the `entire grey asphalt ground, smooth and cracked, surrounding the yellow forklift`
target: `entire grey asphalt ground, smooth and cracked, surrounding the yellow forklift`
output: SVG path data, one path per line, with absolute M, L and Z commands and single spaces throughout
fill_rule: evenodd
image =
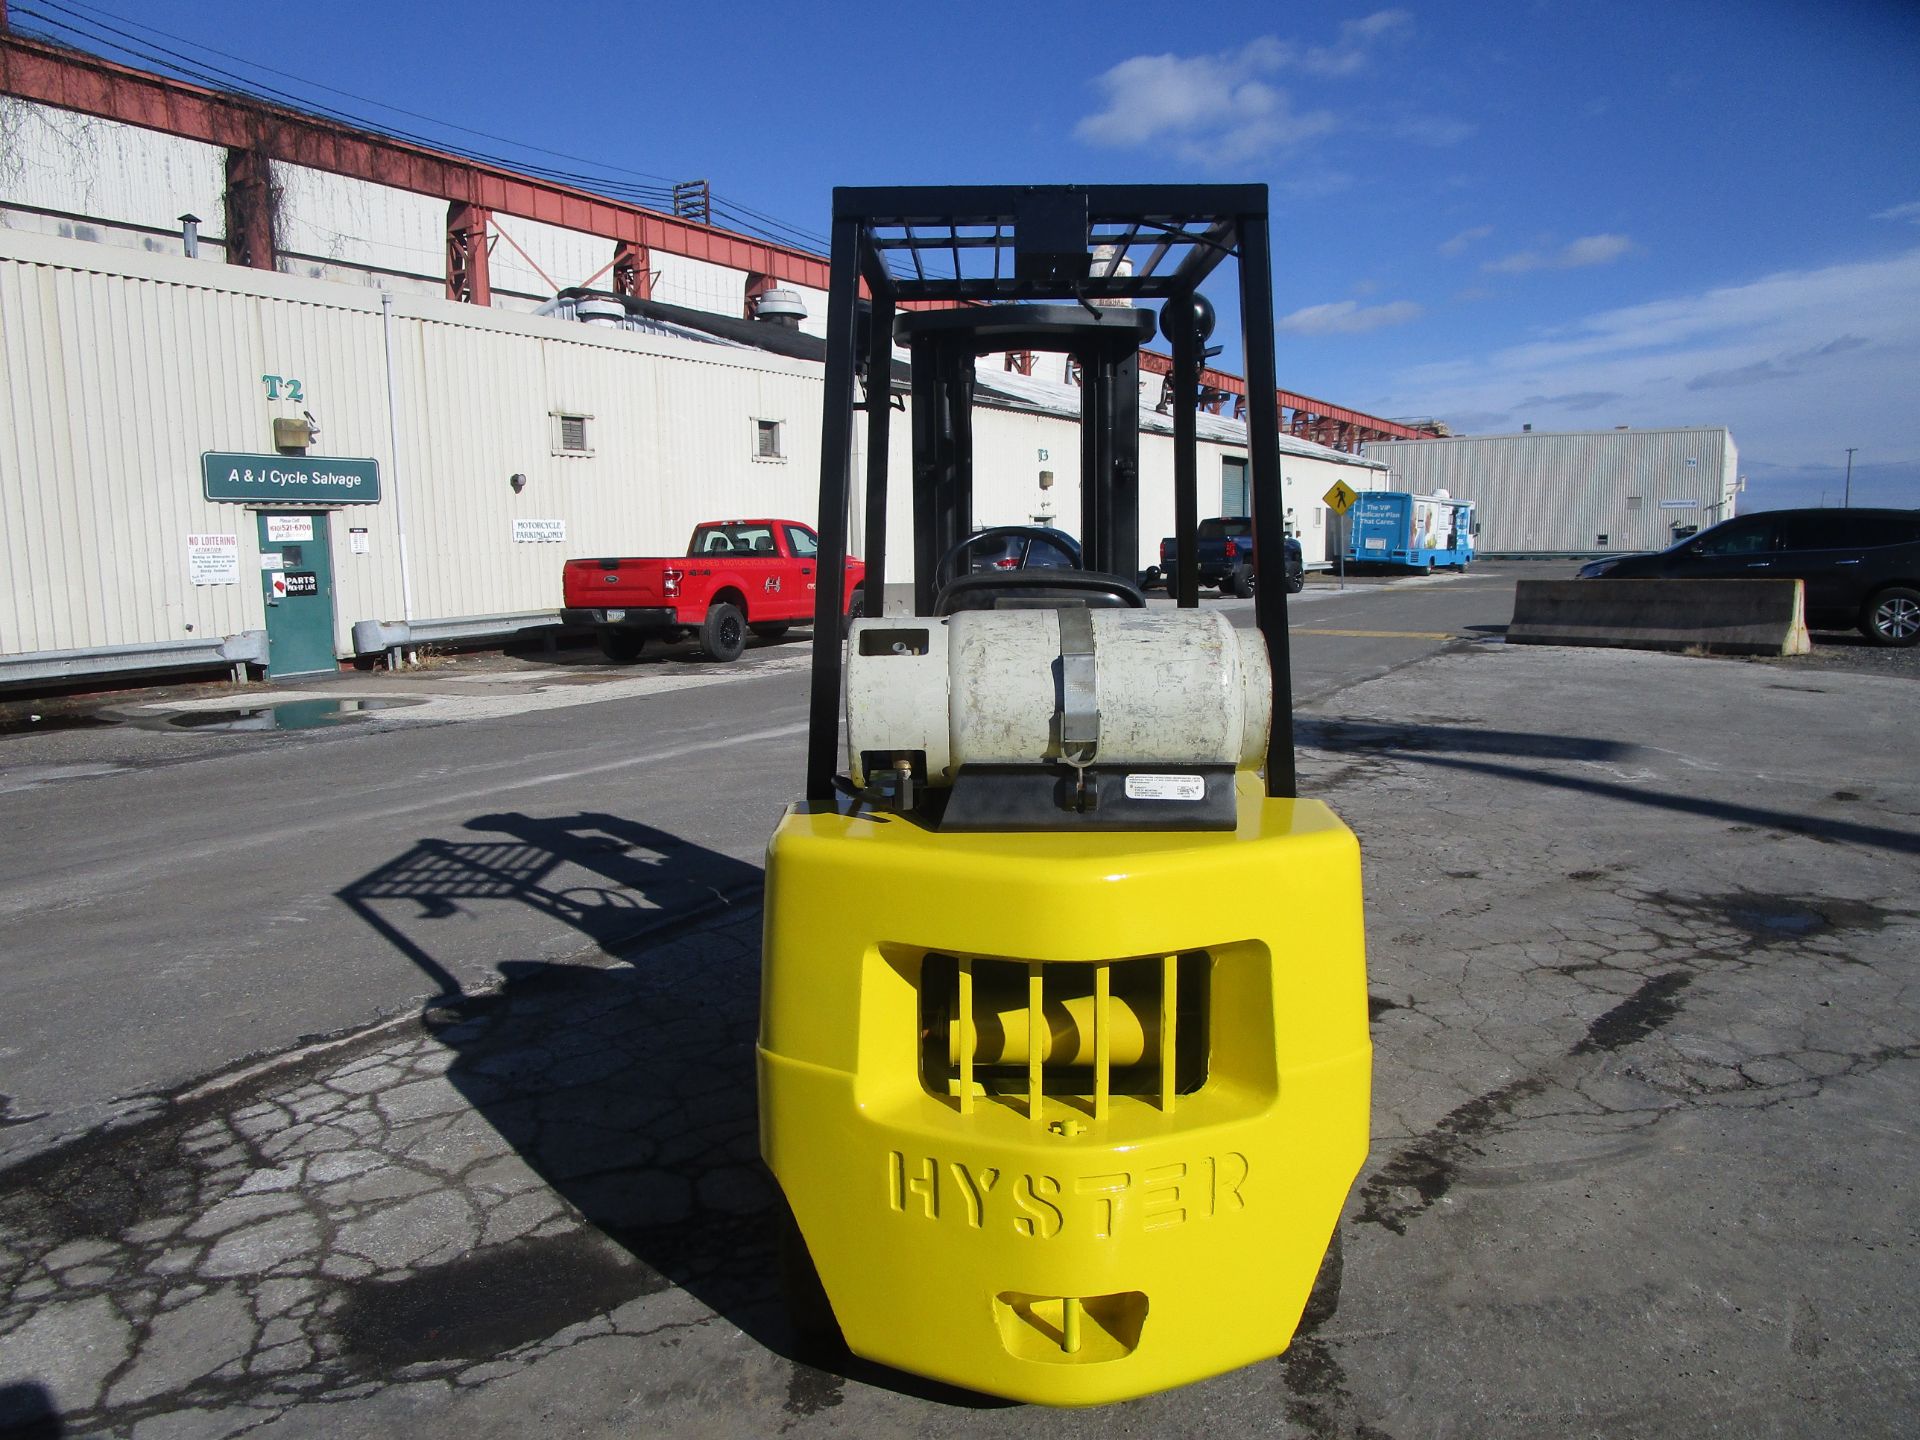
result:
M 1367 887 L 1338 1306 L 1098 1411 L 795 1357 L 753 1033 L 803 647 L 0 739 L 0 1432 L 1910 1432 L 1912 678 L 1507 649 L 1498 584 L 1294 614 Z

